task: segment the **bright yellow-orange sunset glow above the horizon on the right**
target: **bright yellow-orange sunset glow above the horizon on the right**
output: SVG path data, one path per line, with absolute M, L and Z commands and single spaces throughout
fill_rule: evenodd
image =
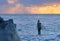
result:
M 28 12 L 32 14 L 59 14 L 60 4 L 52 4 L 45 6 L 31 6 Z

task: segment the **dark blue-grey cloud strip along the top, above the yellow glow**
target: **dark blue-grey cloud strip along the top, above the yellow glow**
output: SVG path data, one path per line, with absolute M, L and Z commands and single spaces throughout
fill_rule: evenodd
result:
M 60 0 L 18 0 L 19 3 L 24 5 L 43 5 L 48 3 L 60 3 Z

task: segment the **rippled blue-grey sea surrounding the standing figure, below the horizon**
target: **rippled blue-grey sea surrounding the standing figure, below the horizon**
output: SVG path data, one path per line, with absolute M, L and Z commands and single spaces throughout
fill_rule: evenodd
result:
M 13 19 L 21 41 L 60 41 L 59 14 L 0 14 L 4 20 Z M 37 21 L 42 24 L 37 33 Z

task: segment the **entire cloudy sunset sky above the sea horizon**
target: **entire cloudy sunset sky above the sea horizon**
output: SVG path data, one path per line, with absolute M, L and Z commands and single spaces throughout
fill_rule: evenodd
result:
M 60 0 L 0 0 L 0 14 L 60 14 Z

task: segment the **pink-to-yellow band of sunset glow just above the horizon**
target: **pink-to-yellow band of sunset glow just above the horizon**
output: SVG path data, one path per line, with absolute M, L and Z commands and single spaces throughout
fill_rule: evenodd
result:
M 25 10 L 25 11 L 24 11 Z M 8 9 L 10 13 L 31 13 L 31 14 L 59 14 L 60 4 L 43 5 L 43 6 L 29 6 L 24 7 L 21 4 L 16 4 L 15 7 Z

